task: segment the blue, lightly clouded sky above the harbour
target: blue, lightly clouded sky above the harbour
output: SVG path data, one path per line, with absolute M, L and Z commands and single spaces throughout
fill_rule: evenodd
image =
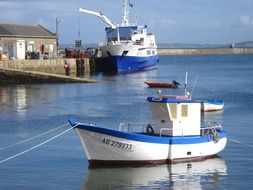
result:
M 131 0 L 130 21 L 147 25 L 157 43 L 229 44 L 253 41 L 253 0 Z M 122 0 L 0 0 L 0 23 L 42 25 L 52 32 L 58 24 L 59 43 L 99 43 L 106 24 L 79 13 L 103 12 L 121 23 Z

